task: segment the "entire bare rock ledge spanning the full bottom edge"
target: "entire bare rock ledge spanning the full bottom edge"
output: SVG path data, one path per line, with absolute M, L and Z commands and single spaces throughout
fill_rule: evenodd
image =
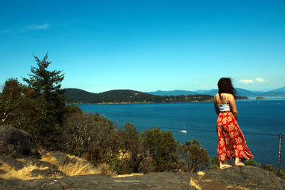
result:
M 103 175 L 4 180 L 0 189 L 285 189 L 284 179 L 257 167 L 232 167 L 205 173 L 150 173 L 142 176 Z

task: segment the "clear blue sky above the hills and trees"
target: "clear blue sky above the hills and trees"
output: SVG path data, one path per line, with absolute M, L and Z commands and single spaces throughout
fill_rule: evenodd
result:
M 48 52 L 63 88 L 285 86 L 285 1 L 0 0 L 0 85 Z

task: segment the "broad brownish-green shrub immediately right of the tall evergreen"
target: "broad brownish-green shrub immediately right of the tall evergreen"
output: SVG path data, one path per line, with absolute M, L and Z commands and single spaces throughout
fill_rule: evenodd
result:
M 108 162 L 110 155 L 118 154 L 118 135 L 113 123 L 98 113 L 72 113 L 63 125 L 63 134 L 66 151 L 79 153 L 93 164 Z

